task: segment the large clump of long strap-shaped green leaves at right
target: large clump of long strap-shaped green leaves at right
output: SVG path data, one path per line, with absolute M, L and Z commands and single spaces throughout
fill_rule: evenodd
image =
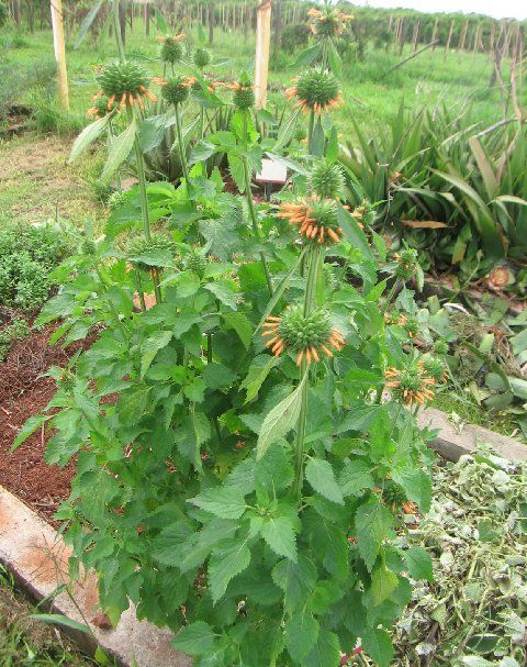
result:
M 395 225 L 425 270 L 453 265 L 470 279 L 527 256 L 527 133 L 505 126 L 478 138 L 476 127 L 470 111 L 401 107 L 390 133 L 367 140 L 356 125 L 341 154 L 350 200 L 383 202 L 379 224 Z

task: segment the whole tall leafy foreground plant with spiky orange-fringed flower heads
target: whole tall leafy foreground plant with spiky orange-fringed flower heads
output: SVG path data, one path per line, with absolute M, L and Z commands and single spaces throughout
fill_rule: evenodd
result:
M 405 574 L 429 576 L 426 552 L 392 537 L 405 511 L 430 504 L 415 407 L 435 380 L 383 315 L 391 275 L 412 298 L 408 263 L 395 258 L 380 280 L 383 242 L 340 201 L 326 114 L 336 80 L 306 78 L 309 154 L 287 159 L 280 204 L 258 204 L 250 79 L 229 86 L 229 130 L 188 163 L 181 153 L 176 188 L 145 180 L 137 98 L 149 84 L 125 71 L 122 58 L 104 90 L 128 119 L 112 168 L 115 146 L 121 160 L 134 151 L 139 184 L 115 202 L 105 236 L 86 237 L 57 269 L 64 288 L 38 320 L 61 319 L 56 340 L 96 324 L 99 335 L 49 370 L 49 411 L 15 446 L 45 424 L 47 462 L 77 456 L 58 516 L 74 574 L 96 569 L 113 622 L 134 602 L 197 667 L 336 667 L 358 645 L 388 666 L 386 629 L 411 599 Z M 190 82 L 161 85 L 178 118 Z M 217 169 L 208 177 L 220 152 L 237 193 Z

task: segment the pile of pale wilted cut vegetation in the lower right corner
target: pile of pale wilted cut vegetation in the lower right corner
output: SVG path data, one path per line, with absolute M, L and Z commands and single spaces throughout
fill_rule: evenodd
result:
M 399 667 L 527 663 L 527 463 L 481 446 L 437 468 L 431 510 L 404 538 L 428 551 L 399 622 Z

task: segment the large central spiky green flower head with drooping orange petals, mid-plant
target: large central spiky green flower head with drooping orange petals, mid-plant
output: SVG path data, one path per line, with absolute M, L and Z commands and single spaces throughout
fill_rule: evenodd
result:
M 333 357 L 333 351 L 339 352 L 346 344 L 343 334 L 332 327 L 325 310 L 305 315 L 302 305 L 287 309 L 281 318 L 267 318 L 262 336 L 269 337 L 266 346 L 271 347 L 274 356 L 284 349 L 294 353 L 298 366 L 303 360 L 307 365 L 319 362 L 323 354 Z

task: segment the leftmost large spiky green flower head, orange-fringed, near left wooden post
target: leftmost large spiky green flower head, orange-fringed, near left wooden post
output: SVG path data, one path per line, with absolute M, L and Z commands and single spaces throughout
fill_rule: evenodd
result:
M 155 97 L 148 90 L 148 73 L 135 63 L 110 63 L 97 75 L 101 91 L 109 98 L 109 104 L 116 102 L 120 107 L 133 105 L 136 101 L 143 103 L 143 96 L 155 101 Z

